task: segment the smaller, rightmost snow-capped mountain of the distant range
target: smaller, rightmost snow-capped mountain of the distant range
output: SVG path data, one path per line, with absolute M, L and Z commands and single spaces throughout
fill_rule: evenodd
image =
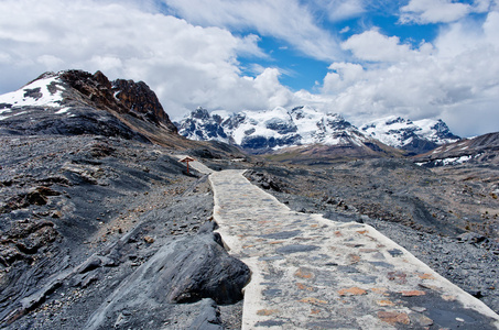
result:
M 412 154 L 422 154 L 438 145 L 460 140 L 440 119 L 411 121 L 391 116 L 366 123 L 360 127 L 360 131 Z

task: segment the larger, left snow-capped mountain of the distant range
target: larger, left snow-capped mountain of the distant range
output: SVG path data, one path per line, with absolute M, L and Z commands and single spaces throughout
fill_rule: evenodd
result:
M 299 145 L 375 147 L 375 139 L 361 133 L 337 113 L 323 113 L 311 107 L 292 110 L 278 107 L 267 111 L 211 114 L 197 108 L 177 123 L 178 133 L 192 140 L 216 140 L 237 144 L 250 152 L 276 151 Z

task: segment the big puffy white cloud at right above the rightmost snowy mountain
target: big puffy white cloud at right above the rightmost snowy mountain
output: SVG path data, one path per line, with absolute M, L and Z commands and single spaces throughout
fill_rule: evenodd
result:
M 323 96 L 355 123 L 386 114 L 442 118 L 456 133 L 499 129 L 499 13 L 484 23 L 456 22 L 417 48 L 376 30 L 343 46 L 361 64 L 334 63 Z M 370 63 L 375 62 L 375 63 Z

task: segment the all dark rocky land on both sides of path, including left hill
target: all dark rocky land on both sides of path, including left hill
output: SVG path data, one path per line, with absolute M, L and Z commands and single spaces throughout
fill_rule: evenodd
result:
M 45 74 L 0 96 L 0 327 L 239 329 L 249 270 L 213 232 L 207 177 L 175 154 L 248 168 L 301 212 L 370 223 L 499 311 L 497 139 L 469 141 L 475 162 L 434 168 L 393 148 L 249 156 L 180 136 L 143 82 Z

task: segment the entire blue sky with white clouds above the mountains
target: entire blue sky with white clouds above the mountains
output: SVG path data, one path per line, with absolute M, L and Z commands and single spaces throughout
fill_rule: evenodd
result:
M 0 94 L 46 70 L 145 81 L 165 111 L 310 105 L 499 131 L 498 0 L 2 0 Z

